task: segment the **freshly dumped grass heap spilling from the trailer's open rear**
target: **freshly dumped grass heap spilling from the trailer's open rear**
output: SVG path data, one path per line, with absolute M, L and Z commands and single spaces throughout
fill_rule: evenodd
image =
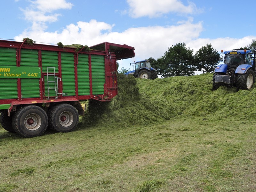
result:
M 137 79 L 118 75 L 118 95 L 110 102 L 89 101 L 86 124 L 110 126 L 149 125 L 164 122 L 177 115 L 172 103 L 153 100 L 145 92 L 139 92 Z

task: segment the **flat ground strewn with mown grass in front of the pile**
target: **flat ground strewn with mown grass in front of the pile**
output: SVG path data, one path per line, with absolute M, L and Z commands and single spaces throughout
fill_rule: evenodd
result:
M 0 131 L 0 191 L 255 191 L 255 122 L 171 119 L 22 139 Z

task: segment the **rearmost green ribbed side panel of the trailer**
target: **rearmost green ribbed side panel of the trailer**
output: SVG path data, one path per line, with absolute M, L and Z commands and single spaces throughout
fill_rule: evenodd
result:
M 104 94 L 105 59 L 103 55 L 92 55 L 92 94 Z

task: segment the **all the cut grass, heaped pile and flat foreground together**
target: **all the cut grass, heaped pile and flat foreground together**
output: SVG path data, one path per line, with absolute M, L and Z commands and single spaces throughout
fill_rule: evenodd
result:
M 256 191 L 256 89 L 211 76 L 120 77 L 74 132 L 0 128 L 0 191 Z

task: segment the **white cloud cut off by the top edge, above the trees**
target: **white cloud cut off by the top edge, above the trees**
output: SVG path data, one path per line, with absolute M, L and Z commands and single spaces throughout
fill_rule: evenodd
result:
M 188 2 L 188 6 L 185 6 L 179 0 L 127 0 L 127 3 L 130 6 L 129 15 L 133 18 L 159 17 L 168 12 L 179 14 L 201 12 L 194 3 Z

